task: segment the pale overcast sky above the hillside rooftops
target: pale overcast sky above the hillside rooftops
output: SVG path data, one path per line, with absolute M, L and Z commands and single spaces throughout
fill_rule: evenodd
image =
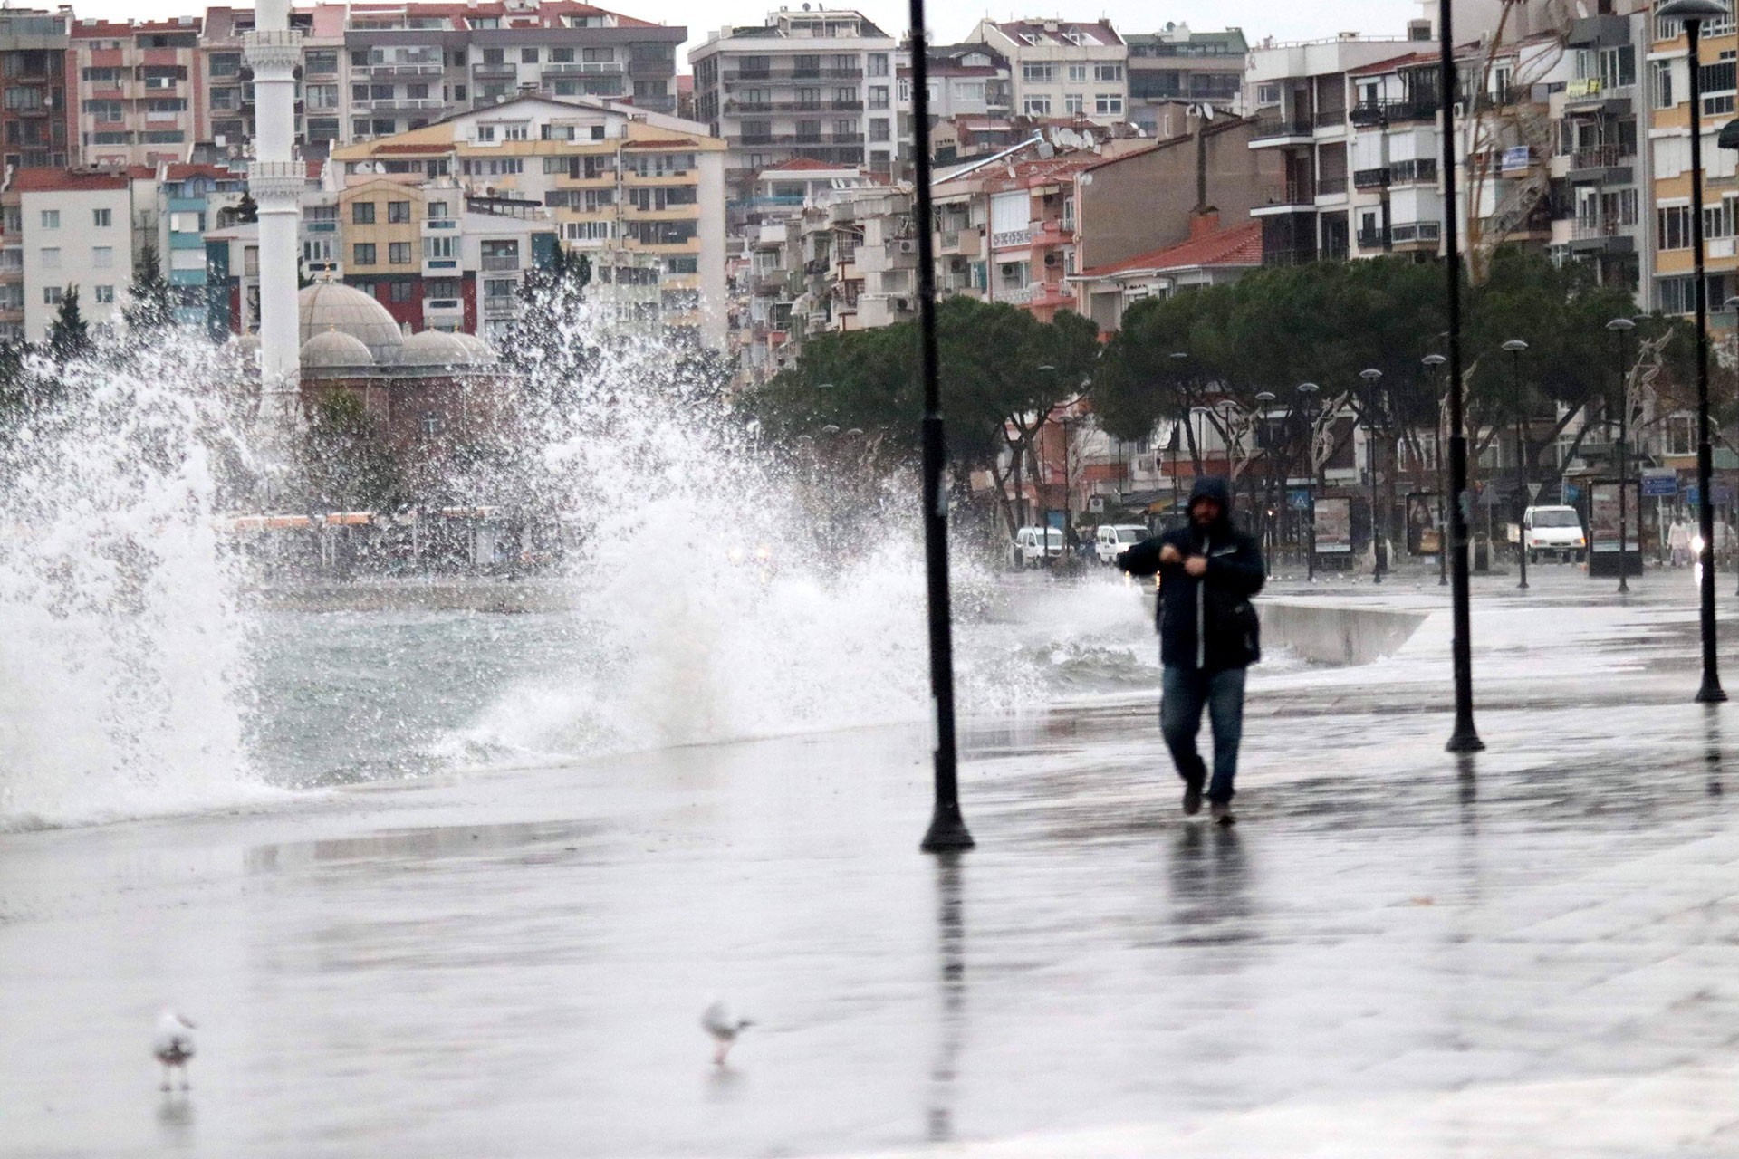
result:
M 235 2 L 235 0 L 231 0 Z M 593 0 L 628 16 L 666 24 L 687 24 L 694 40 L 703 40 L 708 30 L 725 24 L 758 24 L 769 5 L 758 0 Z M 798 7 L 800 0 L 784 0 Z M 836 0 L 838 7 L 850 7 Z M 163 16 L 193 16 L 205 10 L 205 0 L 73 0 L 78 16 L 103 19 L 143 19 Z M 54 7 L 33 3 L 21 7 Z M 245 5 L 240 5 L 245 7 Z M 779 7 L 772 3 L 770 7 Z M 857 5 L 883 30 L 901 35 L 906 30 L 908 5 L 901 0 L 864 0 Z M 937 40 L 962 40 L 984 16 L 1009 19 L 1017 16 L 1075 16 L 1094 19 L 1106 16 L 1120 31 L 1153 31 L 1167 21 L 1183 21 L 1191 28 L 1216 30 L 1235 24 L 1243 28 L 1252 42 L 1263 36 L 1276 40 L 1304 40 L 1332 36 L 1339 31 L 1362 31 L 1374 36 L 1400 36 L 1407 21 L 1419 16 L 1417 0 L 1035 0 L 1009 3 L 998 0 L 993 7 L 976 7 L 969 2 L 948 3 L 929 0 L 927 17 Z M 683 71 L 687 66 L 683 64 Z

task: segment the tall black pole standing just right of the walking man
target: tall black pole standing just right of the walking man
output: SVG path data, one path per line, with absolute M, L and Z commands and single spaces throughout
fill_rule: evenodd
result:
M 1456 33 L 1452 0 L 1438 0 L 1438 101 L 1443 106 L 1443 278 L 1449 290 L 1449 542 L 1454 553 L 1450 599 L 1454 603 L 1456 730 L 1449 737 L 1450 752 L 1478 752 L 1485 747 L 1473 726 L 1473 626 L 1468 608 L 1468 436 L 1461 415 L 1461 229 L 1456 198 Z

